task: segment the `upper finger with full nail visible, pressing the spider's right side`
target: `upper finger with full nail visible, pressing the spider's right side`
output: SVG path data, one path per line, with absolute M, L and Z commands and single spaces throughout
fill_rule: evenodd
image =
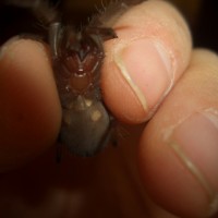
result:
M 105 45 L 104 99 L 119 120 L 142 123 L 189 64 L 190 32 L 181 14 L 161 1 L 131 8 L 113 28 L 118 38 Z

